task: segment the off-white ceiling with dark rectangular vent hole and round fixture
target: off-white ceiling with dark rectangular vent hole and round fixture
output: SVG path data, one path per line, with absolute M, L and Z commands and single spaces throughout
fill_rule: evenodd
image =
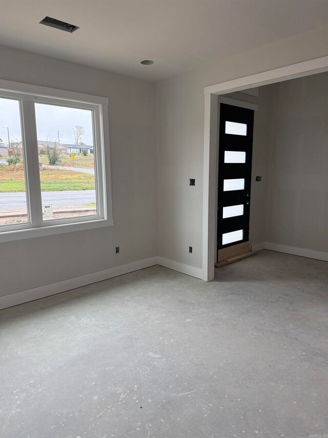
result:
M 0 12 L 4 46 L 151 81 L 328 23 L 326 0 L 2 0 Z M 80 29 L 38 24 L 46 15 Z

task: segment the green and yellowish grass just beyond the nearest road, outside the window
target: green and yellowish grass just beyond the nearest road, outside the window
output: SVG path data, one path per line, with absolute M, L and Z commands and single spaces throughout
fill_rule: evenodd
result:
M 41 167 L 40 180 L 42 192 L 95 189 L 93 175 L 74 172 L 74 170 Z M 0 164 L 0 193 L 12 192 L 25 192 L 23 165 Z

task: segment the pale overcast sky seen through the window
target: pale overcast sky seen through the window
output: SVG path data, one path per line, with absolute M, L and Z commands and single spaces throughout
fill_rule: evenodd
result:
M 86 129 L 81 141 L 93 145 L 92 112 L 88 109 L 70 108 L 58 105 L 35 104 L 35 118 L 38 140 L 58 141 L 74 144 L 73 129 L 75 125 Z M 20 141 L 22 131 L 19 120 L 19 102 L 13 99 L 0 99 L 0 138 L 8 144 L 7 127 L 10 141 Z

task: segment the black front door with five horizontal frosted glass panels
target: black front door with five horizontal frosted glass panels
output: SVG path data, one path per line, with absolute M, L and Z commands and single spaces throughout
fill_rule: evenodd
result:
M 220 104 L 217 249 L 249 239 L 254 110 Z

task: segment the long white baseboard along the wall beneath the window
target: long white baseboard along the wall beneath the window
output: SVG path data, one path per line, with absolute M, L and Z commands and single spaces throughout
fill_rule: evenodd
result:
M 5 295 L 0 298 L 0 309 L 6 309 L 7 307 L 17 306 L 17 304 L 22 304 L 24 302 L 70 291 L 71 289 L 80 288 L 81 286 L 86 286 L 87 284 L 96 283 L 98 281 L 117 277 L 118 275 L 128 274 L 129 272 L 148 268 L 149 266 L 153 266 L 155 264 L 158 264 L 157 257 L 150 257 L 144 260 L 138 260 L 132 263 L 115 266 L 114 268 L 105 269 L 103 271 L 81 275 L 80 277 L 69 278 L 68 280 L 46 284 L 44 286 L 39 286 L 38 288 L 29 289 L 27 291 Z

